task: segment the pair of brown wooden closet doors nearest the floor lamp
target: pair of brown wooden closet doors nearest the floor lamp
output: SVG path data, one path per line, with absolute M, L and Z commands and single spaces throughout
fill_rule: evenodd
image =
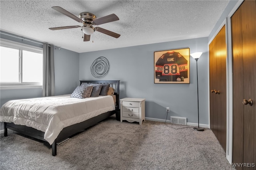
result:
M 226 28 L 209 45 L 210 128 L 226 152 Z M 212 93 L 213 90 L 213 93 Z M 219 93 L 215 93 L 215 91 Z

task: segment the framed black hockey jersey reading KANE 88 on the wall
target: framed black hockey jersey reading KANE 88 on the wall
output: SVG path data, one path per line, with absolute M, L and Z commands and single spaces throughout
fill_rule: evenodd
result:
M 154 52 L 154 83 L 190 83 L 189 48 Z

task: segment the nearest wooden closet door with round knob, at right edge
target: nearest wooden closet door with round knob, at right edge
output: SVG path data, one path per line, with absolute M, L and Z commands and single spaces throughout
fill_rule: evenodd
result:
M 256 0 L 246 0 L 231 18 L 233 56 L 233 163 L 256 169 Z M 243 99 L 252 99 L 244 105 Z

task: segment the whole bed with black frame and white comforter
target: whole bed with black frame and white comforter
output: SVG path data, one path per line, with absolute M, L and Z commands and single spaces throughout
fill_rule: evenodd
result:
M 74 92 L 80 87 L 94 89 L 94 87 L 98 86 L 102 88 L 100 88 L 100 94 L 96 96 L 92 95 L 95 92 L 92 90 L 90 95 L 83 99 L 76 97 L 76 94 L 74 95 Z M 103 87 L 110 88 L 108 90 Z M 112 92 L 110 92 L 110 89 L 112 89 Z M 4 136 L 8 136 L 7 129 L 11 129 L 26 136 L 47 141 L 52 146 L 52 155 L 56 156 L 57 144 L 110 117 L 120 107 L 119 80 L 81 80 L 80 86 L 76 90 L 71 96 L 61 95 L 7 102 L 1 108 L 1 121 L 4 122 Z M 110 92 L 111 94 L 106 95 L 106 92 Z M 8 107 L 5 105 L 8 105 Z M 12 108 L 15 108 L 16 105 L 19 106 L 18 118 L 12 113 L 14 112 Z M 35 107 L 36 109 L 32 109 L 35 105 L 37 105 Z M 24 108 L 28 109 L 26 110 Z M 24 116 L 21 118 L 20 115 Z M 25 119 L 25 122 L 20 119 Z

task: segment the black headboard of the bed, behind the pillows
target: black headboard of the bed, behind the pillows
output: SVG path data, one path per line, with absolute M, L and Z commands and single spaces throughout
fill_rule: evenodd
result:
M 82 83 L 93 83 L 93 84 L 110 84 L 110 87 L 115 89 L 114 95 L 116 95 L 116 110 L 119 109 L 119 82 L 120 80 L 80 80 Z

